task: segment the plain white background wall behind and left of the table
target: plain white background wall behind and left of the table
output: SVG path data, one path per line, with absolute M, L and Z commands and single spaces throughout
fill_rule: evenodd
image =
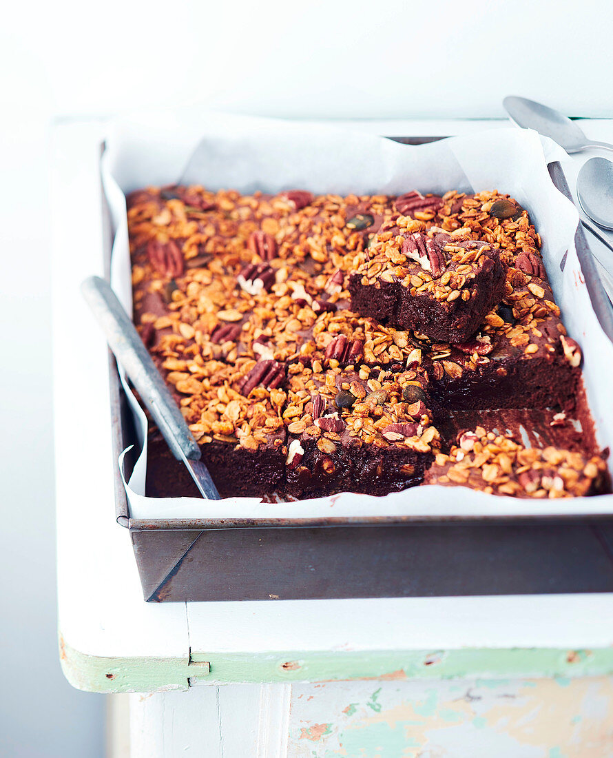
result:
M 51 124 L 192 102 L 293 117 L 501 117 L 508 94 L 611 117 L 613 4 L 31 0 L 0 10 L 0 753 L 99 756 L 102 697 L 65 683 L 55 637 Z

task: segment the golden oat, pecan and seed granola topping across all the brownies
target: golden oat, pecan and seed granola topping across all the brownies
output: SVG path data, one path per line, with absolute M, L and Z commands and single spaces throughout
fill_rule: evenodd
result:
M 431 399 L 441 387 L 482 372 L 502 381 L 511 359 L 581 362 L 540 236 L 508 196 L 173 186 L 133 193 L 128 221 L 136 324 L 202 445 L 274 450 L 294 472 L 311 465 L 312 445 L 330 477 L 346 447 L 436 455 L 443 484 L 517 496 L 586 493 L 602 478 L 598 456 L 527 450 L 482 428 L 439 452 Z M 450 309 L 470 304 L 493 261 L 505 266 L 502 302 L 467 340 L 432 340 L 349 309 L 355 274 Z M 558 413 L 552 430 L 567 423 Z M 411 476 L 413 459 L 399 468 Z

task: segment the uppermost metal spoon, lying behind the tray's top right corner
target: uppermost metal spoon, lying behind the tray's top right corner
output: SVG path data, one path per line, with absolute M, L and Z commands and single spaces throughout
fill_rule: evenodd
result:
M 613 145 L 609 143 L 587 139 L 574 121 L 559 111 L 554 111 L 553 108 L 541 105 L 540 102 L 511 96 L 505 97 L 502 105 L 505 106 L 511 121 L 514 121 L 518 127 L 534 129 L 543 136 L 551 137 L 566 152 L 580 152 L 592 147 L 613 150 Z

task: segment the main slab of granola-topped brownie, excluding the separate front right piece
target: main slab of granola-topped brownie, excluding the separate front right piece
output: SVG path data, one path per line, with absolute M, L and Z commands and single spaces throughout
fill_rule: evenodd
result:
M 133 193 L 128 222 L 135 322 L 223 494 L 401 490 L 450 413 L 574 404 L 580 349 L 507 196 L 171 186 Z M 461 340 L 373 315 L 390 276 Z M 452 306 L 492 290 L 467 327 Z

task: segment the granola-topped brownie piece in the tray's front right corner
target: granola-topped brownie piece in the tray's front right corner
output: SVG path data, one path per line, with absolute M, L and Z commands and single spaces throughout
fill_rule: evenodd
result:
M 483 427 L 464 431 L 449 455 L 437 453 L 426 484 L 461 484 L 515 497 L 557 498 L 604 491 L 607 468 L 601 456 L 549 446 L 527 448 Z

